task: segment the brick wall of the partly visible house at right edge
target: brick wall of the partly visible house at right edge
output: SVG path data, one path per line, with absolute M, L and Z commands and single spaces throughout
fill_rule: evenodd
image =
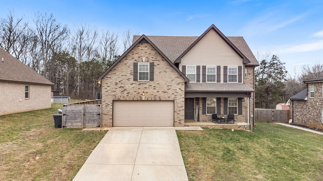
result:
M 307 100 L 292 101 L 290 105 L 291 118 L 295 124 L 323 130 L 323 82 L 308 83 L 307 95 L 309 95 L 309 85 L 314 85 L 314 98 L 307 96 Z

